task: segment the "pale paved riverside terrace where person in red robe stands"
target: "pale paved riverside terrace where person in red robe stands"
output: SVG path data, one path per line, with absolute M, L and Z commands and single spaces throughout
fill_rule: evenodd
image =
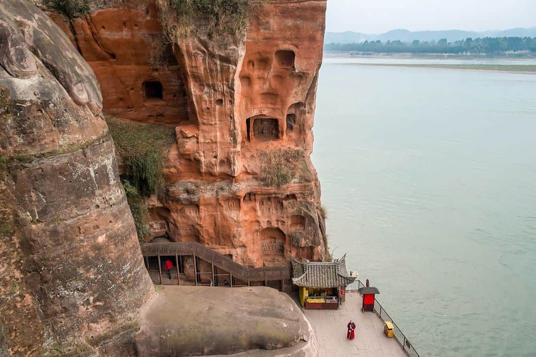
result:
M 361 294 L 346 293 L 338 310 L 302 309 L 315 330 L 318 357 L 407 357 L 394 338 L 383 334 L 383 322 L 375 313 L 361 313 Z M 355 323 L 355 339 L 346 339 L 346 325 Z

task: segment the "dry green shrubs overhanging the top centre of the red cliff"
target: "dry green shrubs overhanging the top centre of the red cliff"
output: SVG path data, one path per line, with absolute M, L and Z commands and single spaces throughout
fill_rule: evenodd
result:
M 172 38 L 195 28 L 204 29 L 209 38 L 236 38 L 248 25 L 253 6 L 258 0 L 157 0 L 162 20 L 176 16 L 178 21 L 168 28 Z

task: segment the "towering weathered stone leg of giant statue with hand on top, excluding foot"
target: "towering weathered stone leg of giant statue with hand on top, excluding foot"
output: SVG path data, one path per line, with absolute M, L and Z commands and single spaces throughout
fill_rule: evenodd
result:
M 0 335 L 11 355 L 91 350 L 153 290 L 99 85 L 26 1 L 0 3 L 0 65 Z

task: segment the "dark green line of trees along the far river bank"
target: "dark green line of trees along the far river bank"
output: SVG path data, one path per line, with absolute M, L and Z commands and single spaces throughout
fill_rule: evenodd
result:
M 536 52 L 536 37 L 485 37 L 448 42 L 446 39 L 435 41 L 401 42 L 364 41 L 360 43 L 329 43 L 327 51 L 356 51 L 381 53 L 501 53 L 505 51 Z

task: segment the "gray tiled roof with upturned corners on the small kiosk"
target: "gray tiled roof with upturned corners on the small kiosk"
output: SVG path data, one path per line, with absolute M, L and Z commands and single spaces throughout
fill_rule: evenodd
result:
M 291 257 L 293 278 L 297 286 L 312 288 L 330 288 L 346 286 L 355 278 L 348 276 L 346 269 L 346 254 L 333 262 L 299 262 Z

